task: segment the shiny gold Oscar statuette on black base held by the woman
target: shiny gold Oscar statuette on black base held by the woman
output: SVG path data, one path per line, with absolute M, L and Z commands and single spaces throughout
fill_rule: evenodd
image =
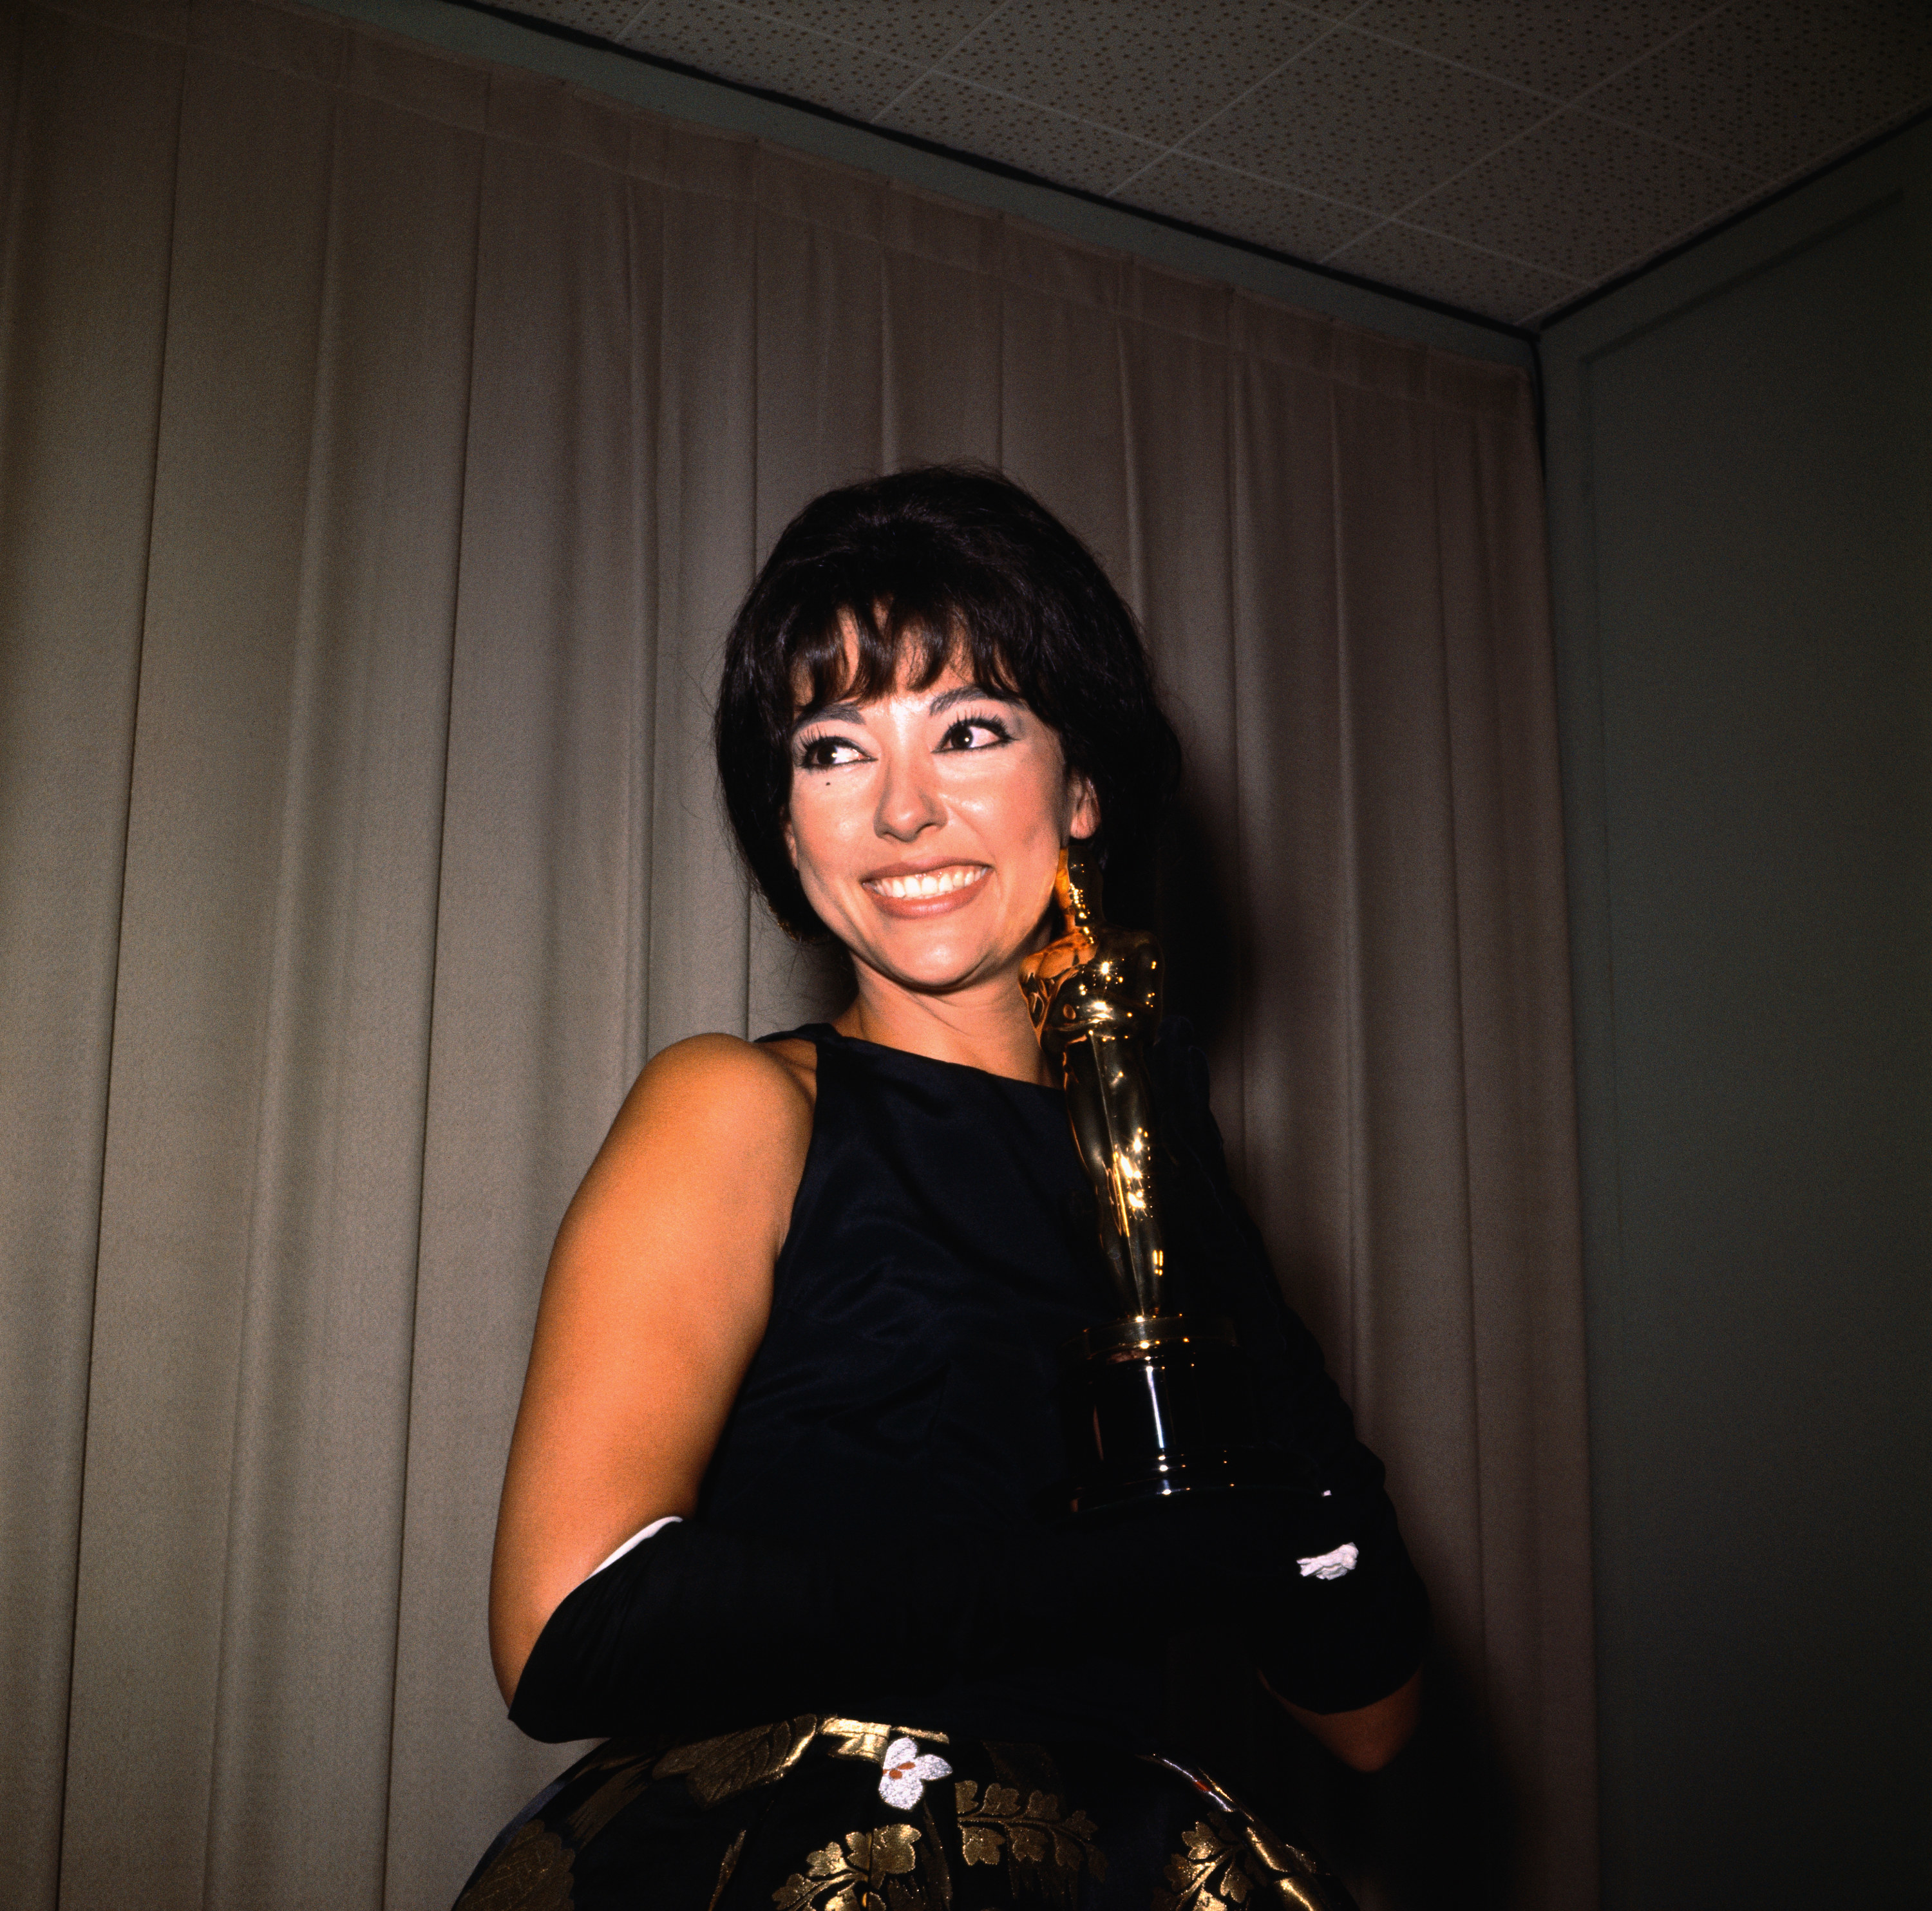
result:
M 1144 1045 L 1161 1022 L 1161 945 L 1101 918 L 1099 881 L 1061 852 L 1066 933 L 1020 964 L 1034 1032 L 1061 1063 L 1066 1115 L 1094 1184 L 1121 1314 L 1063 1349 L 1072 1513 L 1229 1488 L 1293 1488 L 1262 1441 L 1254 1383 L 1227 1322 L 1175 1312 L 1153 1188 L 1153 1090 Z

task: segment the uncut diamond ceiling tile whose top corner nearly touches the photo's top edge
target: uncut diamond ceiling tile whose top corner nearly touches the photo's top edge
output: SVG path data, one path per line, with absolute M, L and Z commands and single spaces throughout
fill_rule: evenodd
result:
M 1347 27 L 1184 141 L 1186 151 L 1397 213 L 1549 108 Z

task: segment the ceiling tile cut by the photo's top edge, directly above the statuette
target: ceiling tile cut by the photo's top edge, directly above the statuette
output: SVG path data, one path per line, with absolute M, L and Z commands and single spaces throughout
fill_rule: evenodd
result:
M 1323 31 L 1265 0 L 1012 0 L 945 70 L 1165 147 Z

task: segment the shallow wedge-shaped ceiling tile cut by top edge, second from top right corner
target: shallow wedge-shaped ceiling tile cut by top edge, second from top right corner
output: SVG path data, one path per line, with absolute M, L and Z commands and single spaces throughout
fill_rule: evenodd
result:
M 1349 25 L 1461 60 L 1495 79 L 1575 99 L 1658 41 L 1710 12 L 1712 0 L 1370 0 Z

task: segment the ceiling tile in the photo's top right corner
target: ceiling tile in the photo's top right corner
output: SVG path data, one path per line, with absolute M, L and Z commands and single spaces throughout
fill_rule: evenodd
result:
M 1781 180 L 1932 104 L 1932 6 L 1750 0 L 1588 104 Z

